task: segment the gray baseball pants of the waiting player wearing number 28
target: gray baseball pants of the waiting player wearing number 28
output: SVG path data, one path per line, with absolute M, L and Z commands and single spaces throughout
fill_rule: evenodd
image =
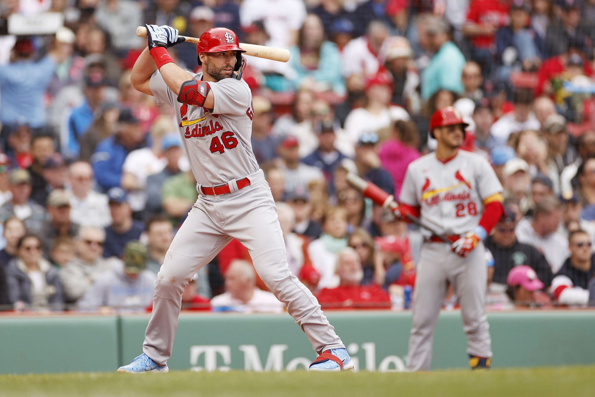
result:
M 491 357 L 491 338 L 486 315 L 487 266 L 483 243 L 466 258 L 450 251 L 450 244 L 425 242 L 415 280 L 413 324 L 409 335 L 407 367 L 429 371 L 432 342 L 438 314 L 446 296 L 446 282 L 452 283 L 461 305 L 467 353 Z

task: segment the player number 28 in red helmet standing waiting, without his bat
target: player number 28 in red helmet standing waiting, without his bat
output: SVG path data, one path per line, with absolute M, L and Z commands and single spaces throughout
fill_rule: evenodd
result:
M 436 111 L 430 119 L 430 134 L 438 141 L 436 152 L 409 164 L 400 192 L 400 215 L 425 220 L 452 242 L 444 243 L 429 233 L 425 236 L 409 336 L 407 365 L 412 371 L 430 370 L 434 329 L 447 281 L 461 305 L 469 364 L 472 368 L 490 367 L 482 240 L 502 216 L 502 186 L 486 159 L 459 150 L 466 126 L 455 108 Z

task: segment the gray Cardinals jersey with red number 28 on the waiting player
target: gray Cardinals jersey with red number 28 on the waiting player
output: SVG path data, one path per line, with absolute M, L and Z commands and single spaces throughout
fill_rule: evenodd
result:
M 496 173 L 480 155 L 459 151 L 443 163 L 430 153 L 409 164 L 400 202 L 421 207 L 436 232 L 464 235 L 479 224 L 484 199 L 500 192 Z

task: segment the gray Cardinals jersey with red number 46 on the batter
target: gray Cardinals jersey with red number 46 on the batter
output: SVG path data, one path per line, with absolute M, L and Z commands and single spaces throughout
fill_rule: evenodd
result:
M 195 74 L 202 79 L 202 72 Z M 220 185 L 258 171 L 252 152 L 252 92 L 244 80 L 209 82 L 214 108 L 181 104 L 177 92 L 165 84 L 159 71 L 151 76 L 151 92 L 158 105 L 176 110 L 184 152 L 200 185 Z

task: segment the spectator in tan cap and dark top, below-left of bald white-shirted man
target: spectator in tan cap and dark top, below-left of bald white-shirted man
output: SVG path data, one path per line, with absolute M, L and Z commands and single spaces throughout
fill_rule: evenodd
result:
M 43 225 L 43 252 L 49 254 L 58 237 L 74 237 L 79 233 L 79 225 L 70 220 L 70 197 L 63 189 L 55 189 L 49 193 L 46 205 L 48 220 Z

